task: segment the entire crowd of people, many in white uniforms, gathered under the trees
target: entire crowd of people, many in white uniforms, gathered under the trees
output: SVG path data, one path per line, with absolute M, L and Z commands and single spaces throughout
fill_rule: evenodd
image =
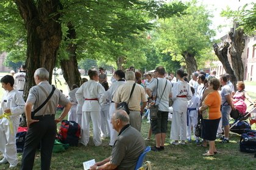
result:
M 38 68 L 34 73 L 36 86 L 30 88 L 26 103 L 22 97 L 26 66 L 21 66 L 20 73 L 2 77 L 2 88 L 6 93 L 0 109 L 0 151 L 3 155 L 0 164 L 10 163 L 10 168 L 17 166 L 15 135 L 23 112 L 29 130 L 21 169 L 33 169 L 39 144 L 41 169 L 50 168 L 56 123 L 66 115 L 69 121 L 80 125 L 80 143 L 84 146 L 90 140 L 90 122 L 95 146 L 102 145 L 102 138 L 110 138 L 111 156 L 97 162 L 91 169 L 134 169 L 145 148 L 140 133 L 142 116 L 149 118 L 149 135 L 153 133 L 155 136 L 155 146 L 151 151 L 165 150 L 172 107 L 171 144 L 187 144 L 194 140 L 197 146 L 209 145 L 209 150 L 202 155 L 213 156 L 217 153 L 217 137 L 221 138 L 221 143 L 229 143 L 230 112 L 235 110 L 233 103 L 240 99 L 255 103 L 244 91 L 243 82 L 236 84 L 238 91 L 235 92 L 230 76 L 224 74 L 217 78 L 216 71 L 208 77 L 204 72 L 196 71 L 189 82 L 183 69 L 176 71 L 176 77 L 174 74 L 168 76 L 163 66 L 158 66 L 154 73 L 144 74 L 143 80 L 133 66 L 126 72 L 116 70 L 111 85 L 104 68 L 99 68 L 99 71 L 91 69 L 88 76 L 89 80 L 83 78 L 80 85 L 73 85 L 66 97 L 49 84 L 48 71 Z M 129 115 L 118 107 L 122 102 L 126 102 Z M 59 118 L 55 118 L 57 105 L 63 106 Z M 150 112 L 152 105 L 158 107 L 154 118 Z M 202 119 L 200 137 L 193 136 L 199 119 Z M 146 140 L 150 140 L 150 136 Z

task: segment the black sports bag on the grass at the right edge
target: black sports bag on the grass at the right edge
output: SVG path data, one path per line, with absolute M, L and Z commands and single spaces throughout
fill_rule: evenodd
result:
M 256 130 L 245 130 L 240 138 L 240 151 L 256 153 Z

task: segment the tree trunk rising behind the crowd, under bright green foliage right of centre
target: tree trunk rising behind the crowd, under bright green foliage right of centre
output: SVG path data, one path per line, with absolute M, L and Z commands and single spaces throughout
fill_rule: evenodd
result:
M 182 56 L 185 59 L 188 80 L 190 80 L 191 74 L 197 70 L 196 58 L 194 58 L 194 55 L 191 55 L 188 52 L 183 52 Z

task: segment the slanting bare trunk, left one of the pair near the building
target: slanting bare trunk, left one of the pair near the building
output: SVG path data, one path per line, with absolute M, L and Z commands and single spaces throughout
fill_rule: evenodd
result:
M 235 73 L 232 67 L 230 66 L 229 60 L 227 58 L 229 43 L 226 41 L 224 42 L 224 44 L 221 45 L 221 47 L 219 47 L 218 44 L 215 43 L 213 44 L 213 49 L 215 51 L 215 54 L 219 58 L 219 61 L 222 63 L 226 73 L 230 75 L 230 81 L 233 83 L 233 85 L 236 85 L 237 79 L 235 77 Z

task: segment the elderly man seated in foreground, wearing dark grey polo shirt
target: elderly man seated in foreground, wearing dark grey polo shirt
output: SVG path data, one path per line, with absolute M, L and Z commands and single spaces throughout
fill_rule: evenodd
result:
M 124 110 L 113 113 L 111 122 L 113 129 L 119 133 L 111 156 L 95 163 L 90 169 L 134 169 L 144 151 L 144 140 L 140 132 L 130 126 L 129 116 Z

